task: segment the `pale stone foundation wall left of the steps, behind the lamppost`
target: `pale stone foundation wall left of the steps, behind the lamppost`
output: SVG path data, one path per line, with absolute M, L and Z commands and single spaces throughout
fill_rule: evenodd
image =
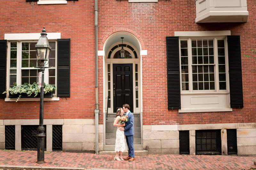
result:
M 0 120 L 0 149 L 5 148 L 5 125 L 15 125 L 15 150 L 21 150 L 21 125 L 37 125 L 38 119 Z M 52 151 L 52 125 L 62 126 L 63 151 L 95 151 L 94 119 L 44 119 L 46 151 Z M 99 151 L 103 150 L 103 125 L 99 125 Z

